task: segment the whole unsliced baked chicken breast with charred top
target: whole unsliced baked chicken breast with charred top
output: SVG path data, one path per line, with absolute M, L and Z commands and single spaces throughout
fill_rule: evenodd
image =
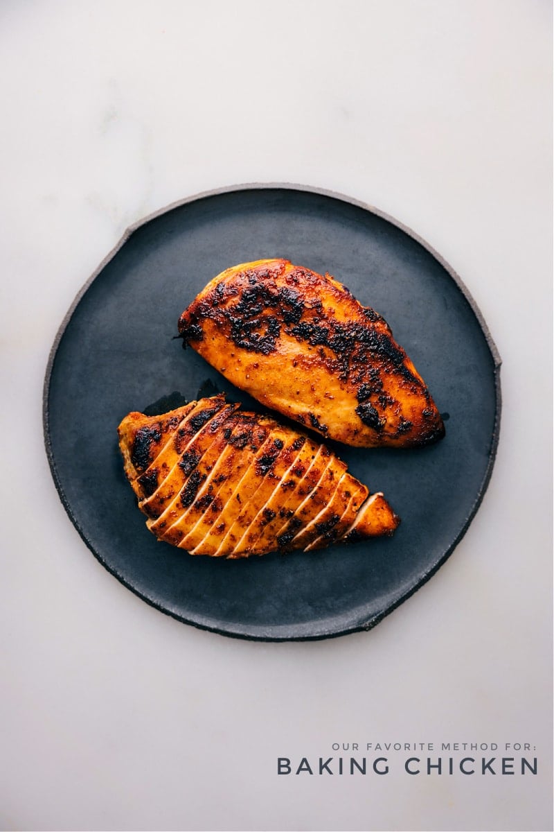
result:
M 444 436 L 385 319 L 330 275 L 288 260 L 234 266 L 184 311 L 179 334 L 238 388 L 326 438 L 371 448 Z

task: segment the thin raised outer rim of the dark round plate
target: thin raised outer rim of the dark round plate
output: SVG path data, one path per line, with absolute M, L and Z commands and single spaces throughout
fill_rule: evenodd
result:
M 475 315 L 475 318 L 477 319 L 479 328 L 483 332 L 483 337 L 493 359 L 495 410 L 493 432 L 491 435 L 491 448 L 490 452 L 488 453 L 487 467 L 485 468 L 483 479 L 479 485 L 476 498 L 473 501 L 473 505 L 470 508 L 468 516 L 463 522 L 463 526 L 460 528 L 458 535 L 453 539 L 453 542 L 451 542 L 449 547 L 446 549 L 446 551 L 443 554 L 443 557 L 440 557 L 439 561 L 434 563 L 433 567 L 431 567 L 427 572 L 424 572 L 423 574 L 419 575 L 417 581 L 410 585 L 408 590 L 404 591 L 400 598 L 398 598 L 394 603 L 392 603 L 390 607 L 387 607 L 387 609 L 383 612 L 376 613 L 365 622 L 355 623 L 352 626 L 346 627 L 345 629 L 341 629 L 340 631 L 318 632 L 311 635 L 298 634 L 297 632 L 295 633 L 295 631 L 297 631 L 298 629 L 298 625 L 277 625 L 277 627 L 275 625 L 269 625 L 267 627 L 257 626 L 256 628 L 253 628 L 256 629 L 257 632 L 241 632 L 236 630 L 232 631 L 223 628 L 223 626 L 213 626 L 213 624 L 208 623 L 208 617 L 200 616 L 197 617 L 197 620 L 192 620 L 187 617 L 184 617 L 183 615 L 179 615 L 178 612 L 174 612 L 166 607 L 162 607 L 160 604 L 154 602 L 153 599 L 143 595 L 142 592 L 140 592 L 136 587 L 133 587 L 133 585 L 125 579 L 125 576 L 121 575 L 120 572 L 118 572 L 114 567 L 110 565 L 110 563 L 106 562 L 105 558 L 101 556 L 101 553 L 96 552 L 96 549 L 93 547 L 92 542 L 87 539 L 86 533 L 81 528 L 81 525 L 78 522 L 78 519 L 75 517 L 74 513 L 72 512 L 71 505 L 68 499 L 66 498 L 66 493 L 61 483 L 61 478 L 57 472 L 56 460 L 54 458 L 53 448 L 51 445 L 49 395 L 51 387 L 51 375 L 54 363 L 56 361 L 57 350 L 61 344 L 61 339 L 63 338 L 66 332 L 66 328 L 70 323 L 77 306 L 81 303 L 81 300 L 86 295 L 86 292 L 89 290 L 96 278 L 105 269 L 105 266 L 108 265 L 110 261 L 114 259 L 115 255 L 117 255 L 120 249 L 125 245 L 127 240 L 130 239 L 130 236 L 133 235 L 136 230 L 139 230 L 141 227 L 147 225 L 152 220 L 155 220 L 158 217 L 169 213 L 169 211 L 176 210 L 193 202 L 209 199 L 214 196 L 223 196 L 224 194 L 245 191 L 263 190 L 298 191 L 299 193 L 308 193 L 316 196 L 326 196 L 333 200 L 345 202 L 348 205 L 355 206 L 357 208 L 365 210 L 370 214 L 375 215 L 382 220 L 385 220 L 386 222 L 390 223 L 390 225 L 395 226 L 395 228 L 403 231 L 404 234 L 408 235 L 412 240 L 421 245 L 422 248 L 424 248 L 424 250 L 429 252 L 429 254 L 432 255 L 434 259 L 439 262 L 439 265 L 441 265 L 444 268 L 451 280 L 453 280 L 454 284 L 458 287 L 458 290 L 461 292 L 464 299 L 468 302 L 470 309 L 472 310 L 473 314 Z M 487 492 L 488 484 L 490 483 L 494 463 L 498 452 L 498 441 L 502 413 L 502 389 L 500 382 L 501 366 L 502 359 L 498 352 L 498 348 L 493 340 L 493 336 L 490 332 L 490 329 L 488 328 L 488 324 L 486 323 L 483 314 L 478 307 L 478 304 L 474 300 L 473 295 L 471 295 L 471 292 L 468 290 L 468 287 L 465 285 L 465 283 L 458 275 L 458 273 L 453 269 L 453 267 L 449 265 L 449 262 L 445 260 L 444 257 L 440 255 L 439 252 L 435 250 L 434 247 L 427 242 L 427 240 L 424 240 L 423 237 L 417 234 L 408 225 L 404 225 L 404 223 L 402 223 L 400 220 L 395 219 L 395 217 L 391 216 L 383 210 L 380 210 L 379 208 L 376 208 L 375 206 L 370 205 L 369 203 L 360 201 L 355 197 L 346 196 L 338 191 L 331 191 L 326 188 L 321 188 L 317 186 L 300 185 L 292 182 L 247 182 L 238 185 L 222 186 L 208 191 L 200 191 L 199 193 L 196 193 L 192 196 L 186 196 L 180 200 L 173 201 L 169 203 L 169 205 L 154 210 L 149 215 L 146 215 L 145 217 L 142 217 L 140 220 L 136 220 L 134 223 L 129 225 L 125 229 L 123 235 L 120 237 L 120 240 L 118 240 L 115 246 L 108 252 L 107 255 L 105 255 L 105 257 L 101 260 L 96 269 L 92 272 L 88 280 L 86 280 L 86 282 L 81 286 L 81 289 L 76 293 L 71 305 L 66 311 L 66 314 L 61 320 L 61 324 L 56 331 L 56 336 L 52 342 L 51 349 L 48 354 L 47 367 L 44 376 L 44 383 L 42 386 L 42 432 L 44 446 L 47 454 L 47 461 L 50 468 L 51 477 L 54 481 L 58 497 L 60 498 L 61 504 L 65 508 L 67 516 L 70 518 L 73 526 L 76 528 L 76 531 L 79 533 L 82 541 L 86 544 L 86 547 L 96 557 L 96 560 L 98 560 L 101 563 L 101 565 L 105 567 L 105 569 L 108 572 L 110 572 L 111 575 L 117 578 L 117 580 L 120 583 L 122 583 L 127 589 L 133 592 L 135 596 L 139 597 L 142 601 L 149 604 L 150 607 L 154 607 L 154 609 L 159 610 L 159 612 L 163 612 L 164 615 L 168 615 L 169 617 L 172 617 L 184 624 L 188 624 L 189 626 L 194 626 L 197 629 L 213 632 L 221 636 L 228 636 L 229 638 L 240 638 L 247 641 L 262 641 L 266 643 L 282 641 L 322 641 L 323 639 L 338 638 L 340 636 L 350 635 L 353 632 L 369 631 L 373 629 L 373 627 L 379 624 L 385 617 L 389 616 L 390 613 L 393 612 L 395 609 L 400 607 L 401 604 L 407 601 L 409 597 L 414 595 L 415 592 L 417 592 L 421 587 L 423 587 L 424 584 L 427 583 L 429 579 L 434 576 L 434 573 L 437 572 L 439 568 L 444 565 L 444 562 L 448 560 L 450 555 L 453 553 L 454 549 L 462 540 L 465 533 L 468 531 L 468 527 L 473 521 L 473 518 L 475 517 L 475 514 L 478 511 L 478 508 L 483 502 L 484 495 Z M 322 622 L 325 622 L 326 620 L 327 619 L 322 619 Z M 278 630 L 278 632 L 272 632 L 272 630 L 276 629 Z M 282 630 L 283 632 L 281 632 Z

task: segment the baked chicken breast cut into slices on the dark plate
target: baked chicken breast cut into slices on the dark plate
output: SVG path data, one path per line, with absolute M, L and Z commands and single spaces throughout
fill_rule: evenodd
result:
M 381 493 L 325 445 L 223 395 L 118 428 L 127 478 L 159 540 L 213 557 L 248 557 L 394 532 Z

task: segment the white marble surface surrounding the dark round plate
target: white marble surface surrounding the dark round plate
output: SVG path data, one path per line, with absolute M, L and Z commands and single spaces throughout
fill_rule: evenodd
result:
M 552 829 L 550 5 L 2 3 L 2 829 Z M 179 624 L 96 562 L 51 481 L 42 379 L 76 292 L 135 220 L 248 181 L 409 225 L 503 358 L 483 505 L 370 633 Z M 529 742 L 538 774 L 276 775 L 397 740 Z

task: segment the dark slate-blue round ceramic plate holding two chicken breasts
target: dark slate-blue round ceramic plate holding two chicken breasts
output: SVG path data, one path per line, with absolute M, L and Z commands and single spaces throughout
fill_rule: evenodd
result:
M 116 428 L 130 410 L 169 409 L 179 396 L 159 399 L 174 391 L 196 399 L 210 382 L 255 406 L 174 335 L 179 314 L 214 275 L 273 256 L 329 271 L 385 316 L 429 385 L 447 435 L 419 450 L 335 448 L 400 514 L 394 537 L 240 561 L 191 557 L 147 531 Z M 468 528 L 498 441 L 499 364 L 458 277 L 395 220 L 292 186 L 219 191 L 130 229 L 82 290 L 47 370 L 47 454 L 86 545 L 154 607 L 229 636 L 337 636 L 379 622 Z

